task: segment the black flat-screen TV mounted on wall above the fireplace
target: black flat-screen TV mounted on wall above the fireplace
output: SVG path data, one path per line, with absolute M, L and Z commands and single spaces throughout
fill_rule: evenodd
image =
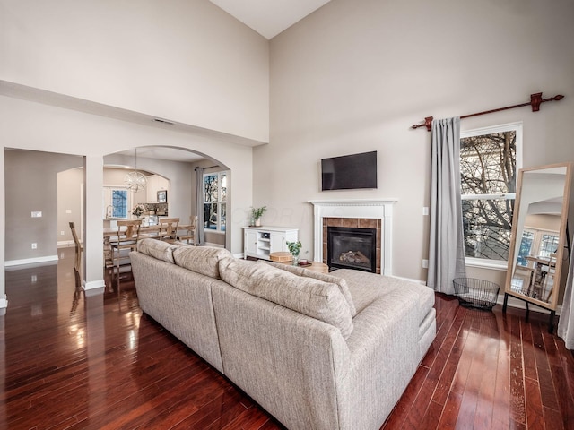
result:
M 377 151 L 321 159 L 321 190 L 377 188 Z

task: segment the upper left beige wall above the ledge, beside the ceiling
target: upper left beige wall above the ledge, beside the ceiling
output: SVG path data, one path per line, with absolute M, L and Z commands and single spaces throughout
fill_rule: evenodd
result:
M 268 42 L 208 0 L 0 0 L 0 40 L 0 80 L 268 140 Z

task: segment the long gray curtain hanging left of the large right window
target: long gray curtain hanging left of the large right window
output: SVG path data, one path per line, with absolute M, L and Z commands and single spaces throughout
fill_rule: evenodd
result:
M 427 285 L 453 294 L 452 280 L 465 277 L 460 202 L 460 118 L 432 122 L 431 240 Z

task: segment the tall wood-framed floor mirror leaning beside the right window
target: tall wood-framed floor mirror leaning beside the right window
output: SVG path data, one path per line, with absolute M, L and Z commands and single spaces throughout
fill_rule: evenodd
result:
M 570 163 L 518 171 L 502 310 L 506 312 L 509 296 L 526 302 L 526 317 L 529 304 L 544 307 L 550 310 L 551 332 L 561 296 L 562 262 L 570 257 L 570 182 Z

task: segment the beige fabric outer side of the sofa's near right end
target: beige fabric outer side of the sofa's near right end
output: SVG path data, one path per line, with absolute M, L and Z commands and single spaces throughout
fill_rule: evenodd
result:
M 342 428 L 378 428 L 413 377 L 419 364 L 417 298 L 414 291 L 392 291 L 353 319 L 347 339 L 352 366 L 337 394 Z

